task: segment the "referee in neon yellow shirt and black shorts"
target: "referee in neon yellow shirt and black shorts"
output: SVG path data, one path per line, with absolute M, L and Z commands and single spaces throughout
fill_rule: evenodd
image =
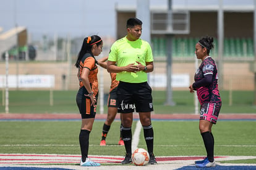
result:
M 153 111 L 151 88 L 147 83 L 147 72 L 153 71 L 152 50 L 147 41 L 141 40 L 142 21 L 137 18 L 127 20 L 127 35 L 111 46 L 107 69 L 117 73 L 117 111 L 122 114 L 122 138 L 126 157 L 121 162 L 132 162 L 132 119 L 133 112 L 139 112 L 144 138 L 150 154 L 149 164 L 155 164 L 153 154 L 153 127 L 150 113 Z

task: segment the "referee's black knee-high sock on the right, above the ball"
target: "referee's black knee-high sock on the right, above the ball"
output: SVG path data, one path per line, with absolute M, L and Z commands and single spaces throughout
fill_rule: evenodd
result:
M 152 125 L 143 126 L 144 138 L 147 143 L 148 153 L 153 153 L 154 131 Z

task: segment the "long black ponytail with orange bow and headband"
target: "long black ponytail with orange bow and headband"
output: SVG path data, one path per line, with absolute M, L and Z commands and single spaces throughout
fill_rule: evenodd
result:
M 92 36 L 88 36 L 85 37 L 83 39 L 83 45 L 79 51 L 78 57 L 77 57 L 77 62 L 75 62 L 75 67 L 79 68 L 79 63 L 82 59 L 82 57 L 85 55 L 85 53 L 90 53 L 92 56 L 92 46 L 93 45 L 101 45 L 102 44 L 102 40 L 100 38 L 100 36 L 98 35 L 92 35 Z M 94 57 L 94 56 L 93 56 Z

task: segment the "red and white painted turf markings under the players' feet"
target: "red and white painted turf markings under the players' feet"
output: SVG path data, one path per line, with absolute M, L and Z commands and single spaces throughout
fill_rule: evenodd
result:
M 118 166 L 118 164 L 123 159 L 123 156 L 96 156 L 89 155 L 89 157 L 99 163 L 107 163 L 108 166 L 101 166 L 97 168 L 86 168 L 88 169 L 177 169 L 182 166 L 192 166 L 194 167 L 194 161 L 196 159 L 201 159 L 203 156 L 158 156 L 158 164 L 149 166 Z M 237 159 L 256 159 L 256 156 L 216 156 L 215 161 L 219 165 L 219 161 L 237 160 Z M 165 159 L 164 159 L 165 158 Z M 41 168 L 44 167 L 57 167 L 57 168 L 70 168 L 70 169 L 85 169 L 85 167 L 79 166 L 80 155 L 46 155 L 46 154 L 4 154 L 0 153 L 0 167 L 1 166 L 37 166 L 41 164 Z M 110 166 L 111 164 L 114 166 Z M 54 165 L 59 164 L 59 165 Z M 230 164 L 242 165 L 242 164 Z M 246 166 L 256 166 L 256 164 L 245 164 Z

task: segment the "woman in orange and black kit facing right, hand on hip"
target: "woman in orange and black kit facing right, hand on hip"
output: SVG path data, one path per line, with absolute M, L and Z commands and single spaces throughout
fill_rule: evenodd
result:
M 77 92 L 77 106 L 82 117 L 79 143 L 82 158 L 80 166 L 100 166 L 88 159 L 89 135 L 93 127 L 98 100 L 98 66 L 94 56 L 100 55 L 103 41 L 98 35 L 84 38 L 82 48 L 75 62 L 78 68 L 79 91 Z

